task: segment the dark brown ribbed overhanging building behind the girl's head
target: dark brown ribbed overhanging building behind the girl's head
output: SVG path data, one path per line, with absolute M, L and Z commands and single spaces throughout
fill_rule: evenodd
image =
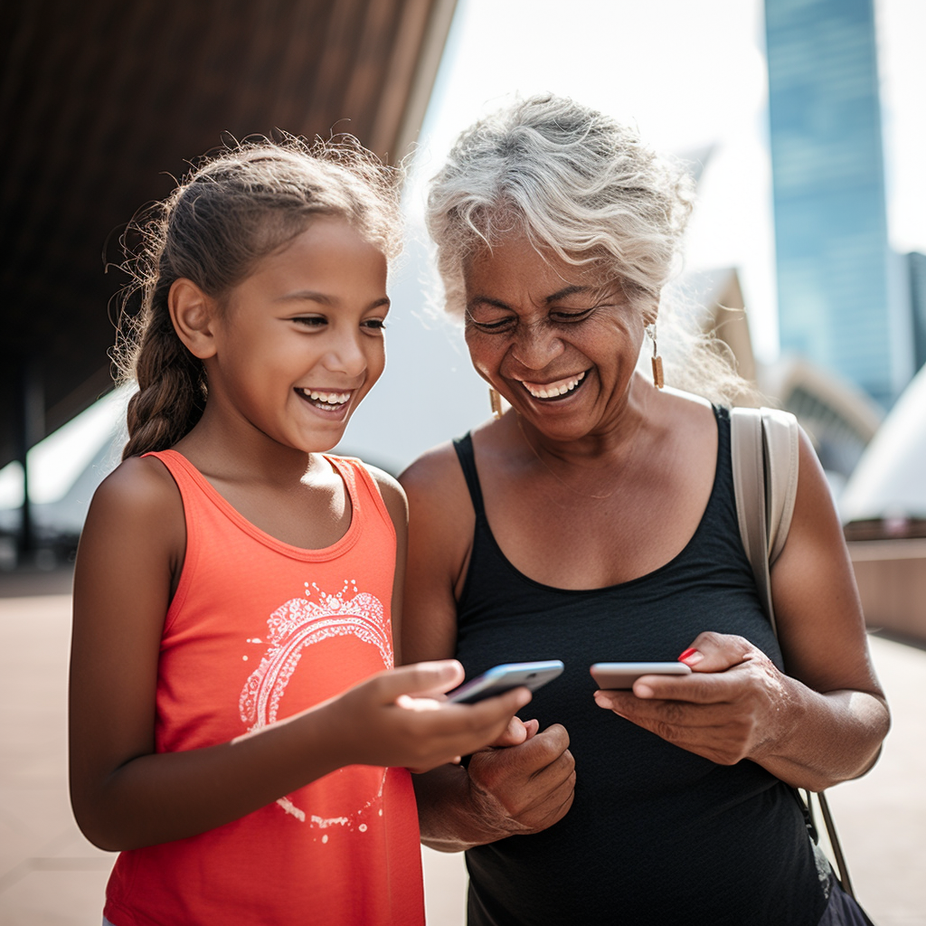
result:
M 48 562 L 72 547 L 94 478 L 113 462 L 111 438 L 100 441 L 93 427 L 71 446 L 82 469 L 53 442 L 49 452 L 72 482 L 49 499 L 48 479 L 31 478 L 43 464 L 30 450 L 112 388 L 113 319 L 129 282 L 119 245 L 136 210 L 168 195 L 191 158 L 227 139 L 351 132 L 397 161 L 418 136 L 454 6 L 4 4 L 0 468 L 14 464 L 0 479 L 4 561 L 15 552 Z

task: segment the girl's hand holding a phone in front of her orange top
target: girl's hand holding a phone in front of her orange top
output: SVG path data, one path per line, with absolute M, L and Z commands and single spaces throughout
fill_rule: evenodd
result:
M 332 699 L 332 748 L 340 765 L 404 766 L 422 772 L 494 743 L 531 700 L 524 687 L 478 704 L 443 694 L 463 681 L 456 659 L 380 672 Z

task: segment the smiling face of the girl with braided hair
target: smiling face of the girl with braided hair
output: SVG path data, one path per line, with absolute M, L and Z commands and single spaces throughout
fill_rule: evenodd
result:
M 272 440 L 330 450 L 385 366 L 386 258 L 320 216 L 262 258 L 216 319 L 209 402 Z

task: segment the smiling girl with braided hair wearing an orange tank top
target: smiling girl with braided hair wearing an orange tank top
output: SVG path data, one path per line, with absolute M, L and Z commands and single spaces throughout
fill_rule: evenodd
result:
M 450 705 L 457 662 L 392 668 L 405 497 L 324 453 L 382 373 L 397 227 L 389 169 L 291 139 L 207 162 L 144 229 L 129 443 L 74 582 L 71 799 L 122 850 L 105 922 L 423 922 L 402 767 L 530 698 Z

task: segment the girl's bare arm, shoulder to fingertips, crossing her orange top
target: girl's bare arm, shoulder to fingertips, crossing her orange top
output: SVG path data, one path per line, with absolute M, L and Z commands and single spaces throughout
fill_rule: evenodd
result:
M 155 754 L 157 657 L 184 543 L 180 495 L 156 461 L 127 460 L 94 495 L 74 578 L 70 785 L 101 848 L 205 832 L 345 765 L 433 768 L 493 741 L 529 700 L 519 689 L 400 707 L 462 679 L 454 663 L 413 666 L 232 742 Z

